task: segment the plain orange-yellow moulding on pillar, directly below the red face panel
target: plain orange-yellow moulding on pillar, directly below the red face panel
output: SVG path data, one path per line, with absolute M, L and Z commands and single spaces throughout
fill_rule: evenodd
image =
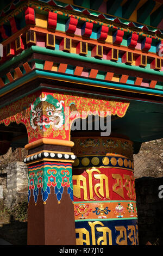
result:
M 38 139 L 38 141 L 34 141 L 34 142 L 31 142 L 31 143 L 25 145 L 25 149 L 32 149 L 32 148 L 38 147 L 42 144 L 60 145 L 60 146 L 66 146 L 66 147 L 74 146 L 74 142 L 72 142 L 72 141 L 64 141 L 62 139 L 42 138 L 42 139 Z

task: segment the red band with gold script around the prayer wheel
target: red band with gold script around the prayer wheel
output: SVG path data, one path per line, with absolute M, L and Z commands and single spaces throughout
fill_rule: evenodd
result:
M 132 172 L 115 168 L 91 168 L 73 175 L 74 201 L 85 200 L 136 200 Z M 80 170 L 81 173 L 81 170 Z

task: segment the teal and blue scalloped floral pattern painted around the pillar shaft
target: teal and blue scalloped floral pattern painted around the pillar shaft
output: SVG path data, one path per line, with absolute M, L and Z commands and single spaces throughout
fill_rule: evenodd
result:
M 73 200 L 72 188 L 72 169 L 67 163 L 45 163 L 37 166 L 29 167 L 29 190 L 28 202 L 33 191 L 35 203 L 41 188 L 41 196 L 43 202 L 46 202 L 48 195 L 51 194 L 51 188 L 54 187 L 54 193 L 57 196 L 58 202 L 62 198 L 64 187 L 67 187 L 67 193 L 70 194 Z

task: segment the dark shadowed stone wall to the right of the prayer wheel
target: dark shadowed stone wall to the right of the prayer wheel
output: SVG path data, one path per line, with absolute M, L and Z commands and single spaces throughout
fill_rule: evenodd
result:
M 139 243 L 149 241 L 163 245 L 163 198 L 159 198 L 159 186 L 163 186 L 163 177 L 143 177 L 135 179 Z M 162 192 L 163 196 L 163 192 Z

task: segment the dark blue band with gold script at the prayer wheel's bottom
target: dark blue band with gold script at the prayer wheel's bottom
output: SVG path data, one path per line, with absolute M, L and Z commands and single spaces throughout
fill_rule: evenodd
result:
M 138 245 L 136 221 L 76 222 L 77 245 Z

